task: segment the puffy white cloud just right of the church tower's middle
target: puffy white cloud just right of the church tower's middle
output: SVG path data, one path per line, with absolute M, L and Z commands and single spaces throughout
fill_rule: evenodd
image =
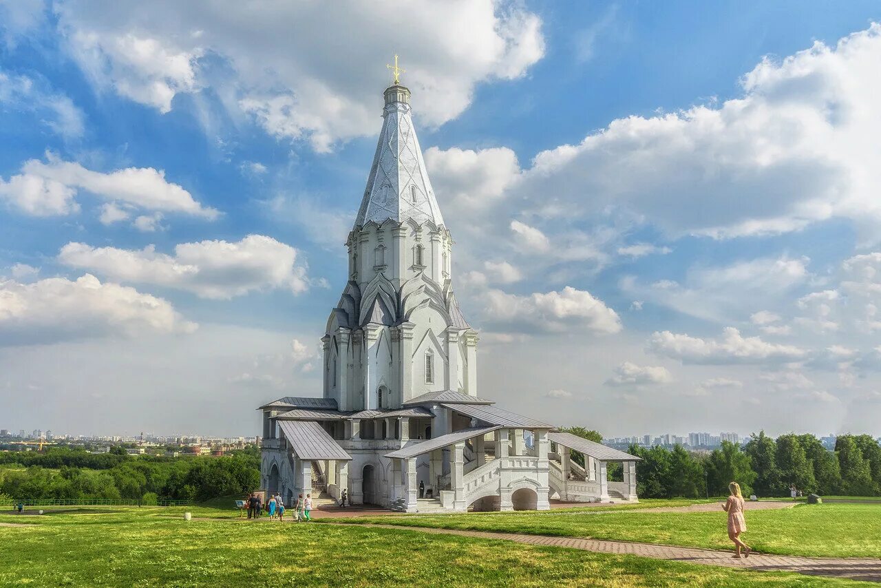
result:
M 485 294 L 486 316 L 511 328 L 539 331 L 616 333 L 621 330 L 618 313 L 585 290 L 565 287 L 560 292 L 528 296 L 489 290 Z

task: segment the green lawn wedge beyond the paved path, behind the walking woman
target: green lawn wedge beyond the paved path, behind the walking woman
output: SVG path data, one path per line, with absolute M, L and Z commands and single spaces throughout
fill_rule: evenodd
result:
M 343 522 L 334 519 L 327 522 Z M 640 541 L 664 545 L 729 549 L 726 514 L 719 512 L 546 512 L 470 513 L 350 518 L 352 523 L 385 523 L 523 532 L 538 535 Z M 746 513 L 744 540 L 759 552 L 781 555 L 881 557 L 881 505 L 801 504 L 786 510 Z

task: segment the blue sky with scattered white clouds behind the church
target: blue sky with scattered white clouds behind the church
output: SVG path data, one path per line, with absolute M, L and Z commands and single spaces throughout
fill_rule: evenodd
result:
M 0 2 L 0 426 L 246 434 L 320 394 L 397 52 L 482 396 L 881 434 L 877 4 L 228 12 Z

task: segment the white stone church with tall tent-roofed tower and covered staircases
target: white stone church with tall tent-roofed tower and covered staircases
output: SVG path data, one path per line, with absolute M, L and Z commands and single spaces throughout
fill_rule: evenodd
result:
M 636 501 L 639 459 L 478 396 L 478 332 L 453 293 L 453 239 L 428 179 L 410 90 L 385 91 L 330 311 L 322 398 L 263 411 L 263 488 L 407 512 L 546 510 L 550 500 Z M 584 466 L 570 459 L 581 453 Z M 623 465 L 608 480 L 606 465 Z

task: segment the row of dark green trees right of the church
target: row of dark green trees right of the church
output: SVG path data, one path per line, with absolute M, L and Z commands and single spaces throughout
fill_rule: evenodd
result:
M 583 436 L 583 435 L 582 435 Z M 744 495 L 881 495 L 881 445 L 870 435 L 841 435 L 826 450 L 814 435 L 751 435 L 742 447 L 722 442 L 707 453 L 631 445 L 637 462 L 637 494 L 646 498 L 727 495 L 737 481 Z

